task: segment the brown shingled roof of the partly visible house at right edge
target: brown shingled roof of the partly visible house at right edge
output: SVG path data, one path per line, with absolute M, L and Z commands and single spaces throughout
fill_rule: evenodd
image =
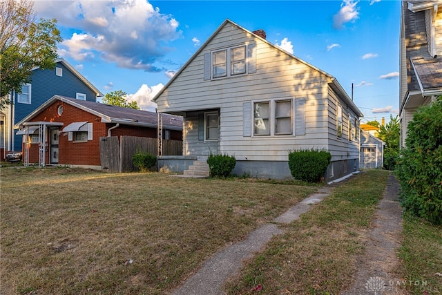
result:
M 425 28 L 425 10 L 437 5 L 442 1 L 405 0 L 403 5 L 407 91 L 421 91 L 424 96 L 442 94 L 442 57 L 430 55 Z

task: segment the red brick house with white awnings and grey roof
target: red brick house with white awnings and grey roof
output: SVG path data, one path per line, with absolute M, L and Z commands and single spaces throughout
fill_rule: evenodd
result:
M 101 169 L 99 138 L 157 137 L 157 113 L 53 96 L 17 123 L 23 162 Z M 163 115 L 163 138 L 182 140 L 182 117 Z

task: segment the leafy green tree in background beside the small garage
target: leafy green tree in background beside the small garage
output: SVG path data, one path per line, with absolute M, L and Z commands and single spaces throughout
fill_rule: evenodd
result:
M 401 134 L 401 125 L 399 124 L 398 116 L 390 115 L 390 122 L 381 125 L 378 137 L 385 142 L 384 150 L 384 168 L 387 170 L 394 170 L 396 161 L 399 156 L 399 140 Z

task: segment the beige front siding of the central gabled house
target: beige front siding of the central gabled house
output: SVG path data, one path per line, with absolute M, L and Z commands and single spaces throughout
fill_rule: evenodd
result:
M 256 42 L 256 73 L 204 81 L 204 53 L 251 41 Z M 242 122 L 244 102 L 297 98 L 305 98 L 305 135 L 243 136 L 243 124 L 251 124 Z M 182 70 L 157 104 L 166 113 L 220 109 L 219 151 L 237 160 L 287 161 L 291 149 L 327 147 L 327 77 L 231 23 Z M 184 155 L 208 153 L 208 144 L 198 141 L 198 117 L 185 120 L 193 128 L 184 126 Z

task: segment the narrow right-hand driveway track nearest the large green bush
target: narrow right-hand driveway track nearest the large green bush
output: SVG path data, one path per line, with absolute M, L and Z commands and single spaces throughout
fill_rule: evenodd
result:
M 343 295 L 407 294 L 401 287 L 399 259 L 396 249 L 401 245 L 402 209 L 398 203 L 399 184 L 390 174 L 383 199 L 374 213 L 365 255 L 358 259 L 356 282 Z

